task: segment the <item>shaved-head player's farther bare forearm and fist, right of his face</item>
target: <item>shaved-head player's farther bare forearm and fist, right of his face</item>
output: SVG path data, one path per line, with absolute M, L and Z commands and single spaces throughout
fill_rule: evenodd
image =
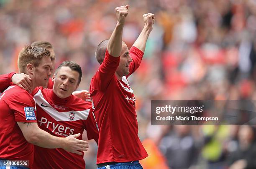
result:
M 153 24 L 155 22 L 155 15 L 153 13 L 147 13 L 143 15 L 144 27 L 133 46 L 137 47 L 142 52 L 145 51 L 146 42 L 150 32 L 153 30 Z

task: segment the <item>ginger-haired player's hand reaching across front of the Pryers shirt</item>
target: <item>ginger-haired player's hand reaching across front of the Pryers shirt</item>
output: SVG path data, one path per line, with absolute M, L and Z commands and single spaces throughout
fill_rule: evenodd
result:
M 87 151 L 89 148 L 88 142 L 84 140 L 79 140 L 76 139 L 79 137 L 81 134 L 74 134 L 74 135 L 69 135 L 66 137 L 66 145 L 63 149 L 65 149 L 68 152 L 76 153 L 79 155 L 82 155 L 82 152 L 79 151 Z

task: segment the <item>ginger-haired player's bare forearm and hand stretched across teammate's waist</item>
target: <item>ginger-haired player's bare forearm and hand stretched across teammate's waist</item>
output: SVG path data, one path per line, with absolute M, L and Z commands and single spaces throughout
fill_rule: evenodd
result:
M 36 122 L 17 123 L 23 133 L 23 136 L 31 144 L 48 149 L 62 148 L 68 152 L 76 153 L 79 155 L 82 155 L 82 152 L 79 151 L 87 151 L 88 142 L 76 139 L 76 137 L 80 136 L 80 133 L 70 135 L 65 138 L 56 137 L 40 129 Z

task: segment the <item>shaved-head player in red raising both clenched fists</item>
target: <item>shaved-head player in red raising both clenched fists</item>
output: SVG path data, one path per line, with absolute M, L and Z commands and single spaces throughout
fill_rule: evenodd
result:
M 128 5 L 116 7 L 117 24 L 109 40 L 95 53 L 100 68 L 92 77 L 90 94 L 99 130 L 97 164 L 100 169 L 140 169 L 138 160 L 148 156 L 138 138 L 135 97 L 127 77 L 140 65 L 146 41 L 153 29 L 154 14 L 143 15 L 144 28 L 133 47 L 122 42 Z

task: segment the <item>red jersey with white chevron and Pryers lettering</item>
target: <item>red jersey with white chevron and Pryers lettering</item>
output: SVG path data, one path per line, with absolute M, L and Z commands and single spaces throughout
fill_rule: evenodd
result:
M 57 136 L 67 137 L 72 134 L 81 133 L 77 139 L 82 139 L 84 129 L 93 128 L 94 120 L 88 118 L 92 104 L 71 95 L 61 99 L 54 94 L 52 89 L 38 87 L 34 91 L 36 100 L 38 126 L 46 132 Z M 87 123 L 88 122 L 88 123 Z M 89 126 L 88 126 L 89 125 Z M 91 135 L 90 135 L 91 134 Z M 93 135 L 95 134 L 95 135 Z M 97 138 L 98 133 L 87 132 L 88 138 Z M 97 141 L 97 140 L 96 140 Z M 35 146 L 35 168 L 81 168 L 85 163 L 83 155 L 65 151 L 64 149 L 46 149 Z

